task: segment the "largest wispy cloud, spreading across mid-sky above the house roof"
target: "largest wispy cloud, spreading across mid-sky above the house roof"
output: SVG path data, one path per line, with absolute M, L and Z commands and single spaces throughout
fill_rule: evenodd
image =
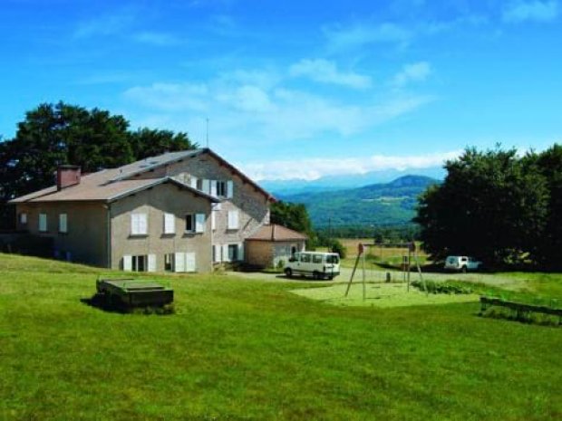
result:
M 224 78 L 202 84 L 154 83 L 131 88 L 124 95 L 135 106 L 144 107 L 151 119 L 159 113 L 182 121 L 186 115 L 219 116 L 213 125 L 215 132 L 243 143 L 249 141 L 248 136 L 273 143 L 314 139 L 326 133 L 353 136 L 434 100 L 403 92 L 386 100 L 334 100 L 280 85 L 227 83 Z

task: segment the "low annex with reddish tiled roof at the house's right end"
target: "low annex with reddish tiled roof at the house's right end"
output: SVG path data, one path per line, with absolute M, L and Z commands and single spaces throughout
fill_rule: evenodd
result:
M 262 225 L 246 239 L 246 260 L 258 267 L 276 267 L 305 250 L 308 237 L 283 225 Z

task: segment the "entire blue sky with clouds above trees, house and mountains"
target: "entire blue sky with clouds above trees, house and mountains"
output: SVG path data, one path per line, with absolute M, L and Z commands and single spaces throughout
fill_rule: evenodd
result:
M 187 131 L 257 179 L 562 139 L 557 0 L 2 0 L 0 135 L 63 100 Z

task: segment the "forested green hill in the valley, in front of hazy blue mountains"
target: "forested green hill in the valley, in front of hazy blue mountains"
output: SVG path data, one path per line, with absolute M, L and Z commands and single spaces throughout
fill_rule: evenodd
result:
M 417 198 L 436 178 L 403 176 L 390 183 L 340 190 L 308 191 L 283 194 L 272 191 L 276 197 L 293 203 L 302 203 L 315 227 L 341 225 L 403 225 L 415 215 Z

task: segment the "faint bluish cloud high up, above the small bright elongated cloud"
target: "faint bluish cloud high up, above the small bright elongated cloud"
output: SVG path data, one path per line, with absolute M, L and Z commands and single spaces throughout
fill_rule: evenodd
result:
M 325 28 L 324 32 L 328 49 L 336 52 L 372 43 L 397 43 L 404 46 L 410 43 L 413 36 L 411 31 L 392 23 L 337 26 Z

